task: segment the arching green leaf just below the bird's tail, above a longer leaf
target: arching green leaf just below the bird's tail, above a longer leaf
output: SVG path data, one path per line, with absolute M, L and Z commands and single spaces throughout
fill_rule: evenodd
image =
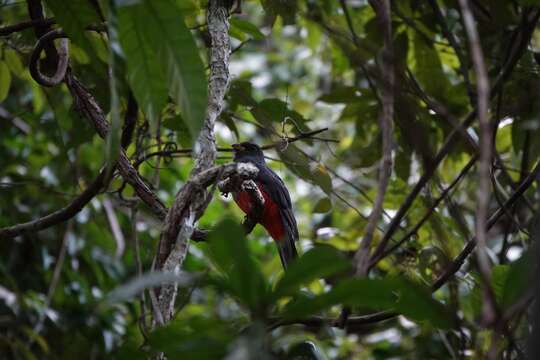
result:
M 332 246 L 317 246 L 294 261 L 274 289 L 274 297 L 292 294 L 302 284 L 351 270 L 352 265 Z

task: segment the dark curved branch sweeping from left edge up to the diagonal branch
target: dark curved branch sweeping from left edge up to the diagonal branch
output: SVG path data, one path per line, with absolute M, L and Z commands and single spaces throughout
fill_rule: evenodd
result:
M 22 234 L 41 231 L 71 219 L 77 215 L 104 187 L 105 173 L 106 171 L 102 170 L 98 177 L 86 188 L 86 190 L 84 190 L 79 196 L 73 199 L 71 203 L 62 209 L 45 215 L 39 219 L 0 229 L 0 239 L 9 239 Z

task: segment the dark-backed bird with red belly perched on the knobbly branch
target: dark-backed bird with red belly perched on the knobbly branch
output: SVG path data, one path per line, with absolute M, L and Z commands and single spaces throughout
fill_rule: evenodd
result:
M 298 240 L 298 227 L 292 210 L 291 197 L 283 180 L 266 165 L 261 148 L 250 142 L 234 144 L 234 161 L 250 162 L 259 172 L 253 179 L 264 197 L 264 210 L 259 223 L 276 242 L 284 269 L 298 256 L 294 242 Z M 236 204 L 246 214 L 253 208 L 251 196 L 240 191 L 233 193 Z

